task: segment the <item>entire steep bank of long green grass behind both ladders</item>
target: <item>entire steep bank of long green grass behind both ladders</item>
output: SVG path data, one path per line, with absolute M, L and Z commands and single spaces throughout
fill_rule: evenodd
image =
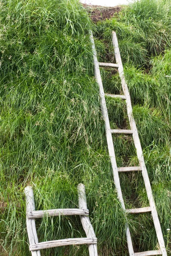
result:
M 108 53 L 114 61 L 111 44 L 108 47 L 111 30 L 119 37 L 169 249 L 171 78 L 166 76 L 171 75 L 171 33 L 167 29 L 171 10 L 167 4 L 143 0 L 98 23 L 94 34 L 103 61 L 109 61 Z M 99 88 L 93 77 L 88 15 L 76 0 L 8 0 L 1 1 L 0 22 L 0 255 L 30 255 L 23 195 L 26 185 L 34 189 L 36 209 L 73 208 L 77 207 L 79 182 L 86 186 L 99 256 L 128 255 L 125 216 L 113 184 Z M 112 77 L 110 73 L 102 70 L 105 90 L 120 92 L 117 72 Z M 124 102 L 107 99 L 107 104 L 111 127 L 127 127 Z M 118 166 L 137 165 L 131 137 L 113 139 Z M 141 175 L 122 175 L 121 180 L 127 207 L 147 206 Z M 139 238 L 135 250 L 155 249 L 150 214 L 131 216 L 129 222 L 133 239 Z M 85 236 L 79 217 L 44 218 L 36 225 L 39 241 Z M 86 246 L 41 252 L 44 256 L 87 253 Z

